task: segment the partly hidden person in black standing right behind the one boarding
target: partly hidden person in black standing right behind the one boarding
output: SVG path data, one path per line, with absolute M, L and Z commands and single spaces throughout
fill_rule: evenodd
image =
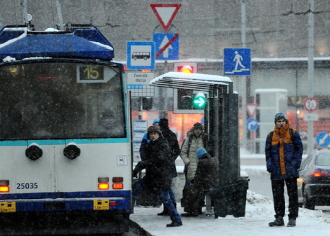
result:
M 168 120 L 166 118 L 160 118 L 159 127 L 160 127 L 160 131 L 161 131 L 163 137 L 166 138 L 166 140 L 168 142 L 168 146 L 172 152 L 172 155 L 170 158 L 170 167 L 171 167 L 171 171 L 172 171 L 172 177 L 174 178 L 177 176 L 175 160 L 176 160 L 177 156 L 180 154 L 180 148 L 178 145 L 178 141 L 177 141 L 177 138 L 176 138 L 176 135 L 174 134 L 174 132 L 169 129 Z M 174 206 L 176 207 L 175 193 L 174 193 L 172 186 L 169 188 L 168 193 L 169 193 L 170 199 L 172 200 Z M 158 213 L 157 215 L 169 215 L 169 212 L 164 207 L 163 211 Z

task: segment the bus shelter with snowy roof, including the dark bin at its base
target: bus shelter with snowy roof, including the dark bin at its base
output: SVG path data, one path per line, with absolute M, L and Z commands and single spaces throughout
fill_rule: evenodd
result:
M 150 81 L 150 86 L 207 92 L 204 108 L 209 152 L 219 162 L 218 187 L 210 189 L 215 217 L 245 215 L 248 179 L 240 176 L 238 94 L 228 77 L 168 72 Z

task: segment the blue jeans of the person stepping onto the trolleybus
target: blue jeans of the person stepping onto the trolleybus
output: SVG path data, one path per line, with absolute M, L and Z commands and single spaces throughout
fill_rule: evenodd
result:
M 134 200 L 140 195 L 143 191 L 147 190 L 144 178 L 137 180 L 133 184 L 133 198 Z M 181 222 L 181 217 L 177 210 L 174 207 L 172 200 L 169 198 L 168 191 L 166 190 L 157 190 L 157 195 L 161 203 L 164 205 L 164 208 L 168 210 L 170 219 L 172 222 Z M 175 199 L 175 198 L 174 198 Z

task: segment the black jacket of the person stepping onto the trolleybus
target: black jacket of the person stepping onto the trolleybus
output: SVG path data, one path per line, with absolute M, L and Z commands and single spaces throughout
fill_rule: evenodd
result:
M 168 190 L 172 182 L 171 150 L 166 138 L 159 137 L 149 143 L 148 157 L 137 163 L 134 172 L 145 168 L 145 182 L 151 190 Z

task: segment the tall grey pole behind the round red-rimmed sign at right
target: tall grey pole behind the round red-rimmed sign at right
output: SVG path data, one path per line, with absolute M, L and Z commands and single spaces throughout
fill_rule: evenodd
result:
M 308 97 L 314 97 L 314 0 L 309 0 L 308 14 Z M 307 154 L 311 153 L 314 144 L 313 121 L 308 121 Z

